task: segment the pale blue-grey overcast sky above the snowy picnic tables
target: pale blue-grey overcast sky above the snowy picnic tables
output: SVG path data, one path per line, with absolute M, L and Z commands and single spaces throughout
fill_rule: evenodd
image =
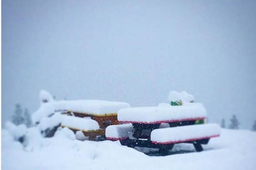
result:
M 186 90 L 211 122 L 251 128 L 255 84 L 255 0 L 2 0 L 2 123 L 41 89 L 132 107 Z

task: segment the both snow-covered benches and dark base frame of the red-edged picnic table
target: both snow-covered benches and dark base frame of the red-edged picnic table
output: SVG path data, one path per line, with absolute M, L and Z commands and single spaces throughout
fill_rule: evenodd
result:
M 165 127 L 166 124 L 151 131 L 151 134 L 149 130 L 145 130 L 149 133 L 148 136 L 141 134 L 136 138 L 132 124 L 111 125 L 106 128 L 106 137 L 112 141 L 119 140 L 122 145 L 128 147 L 159 148 L 160 153 L 165 153 L 172 149 L 175 143 L 192 143 L 199 152 L 203 150 L 201 144 L 207 144 L 210 138 L 220 135 L 220 127 L 217 124 Z

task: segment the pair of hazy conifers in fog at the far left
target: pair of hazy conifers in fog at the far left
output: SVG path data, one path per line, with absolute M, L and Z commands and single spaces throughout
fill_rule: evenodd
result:
M 27 108 L 22 111 L 21 105 L 15 105 L 14 115 L 12 115 L 12 123 L 15 125 L 25 124 L 28 128 L 32 126 L 31 115 Z

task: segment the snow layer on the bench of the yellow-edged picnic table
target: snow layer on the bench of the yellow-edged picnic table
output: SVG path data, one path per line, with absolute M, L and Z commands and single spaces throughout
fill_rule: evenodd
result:
M 100 128 L 97 121 L 95 120 L 66 115 L 62 115 L 61 125 L 84 131 L 97 130 Z

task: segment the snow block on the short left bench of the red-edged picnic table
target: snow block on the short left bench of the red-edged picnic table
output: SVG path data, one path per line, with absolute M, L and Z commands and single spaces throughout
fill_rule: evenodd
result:
M 111 125 L 106 128 L 106 137 L 109 140 L 128 138 L 134 132 L 132 124 Z

